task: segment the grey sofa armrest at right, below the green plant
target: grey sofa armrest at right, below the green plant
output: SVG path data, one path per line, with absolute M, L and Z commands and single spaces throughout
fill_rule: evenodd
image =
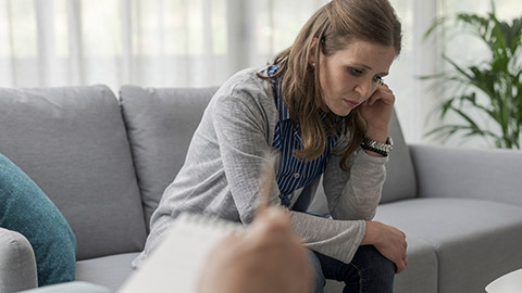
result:
M 410 145 L 421 198 L 465 198 L 522 206 L 522 151 Z

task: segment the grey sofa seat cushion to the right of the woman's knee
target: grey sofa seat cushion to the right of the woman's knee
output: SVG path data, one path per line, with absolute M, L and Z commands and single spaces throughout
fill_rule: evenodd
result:
M 522 266 L 522 206 L 415 199 L 381 205 L 375 219 L 435 249 L 439 292 L 483 292 L 487 283 Z

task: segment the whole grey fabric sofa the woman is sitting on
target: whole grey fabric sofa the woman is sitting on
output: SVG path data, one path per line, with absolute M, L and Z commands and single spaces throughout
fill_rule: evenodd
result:
M 115 291 L 132 272 L 214 91 L 124 86 L 116 98 L 105 86 L 0 89 L 0 153 L 70 222 L 78 281 Z M 484 292 L 521 268 L 522 152 L 407 145 L 395 116 L 390 135 L 396 148 L 376 219 L 408 235 L 409 266 L 395 291 Z M 310 209 L 325 213 L 324 198 Z M 13 242 L 25 255 L 10 253 Z M 0 292 L 35 286 L 30 252 L 0 228 Z M 328 282 L 326 292 L 340 288 Z

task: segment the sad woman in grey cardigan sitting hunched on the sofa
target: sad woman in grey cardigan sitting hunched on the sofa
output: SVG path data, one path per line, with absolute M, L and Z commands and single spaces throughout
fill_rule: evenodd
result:
M 275 150 L 279 166 L 271 204 L 290 209 L 294 230 L 311 251 L 315 292 L 324 278 L 344 281 L 345 292 L 391 292 L 394 272 L 408 263 L 406 237 L 372 218 L 395 102 L 383 77 L 400 40 L 387 0 L 334 0 L 271 66 L 228 79 L 152 216 L 135 266 L 182 212 L 249 224 L 263 156 Z M 321 176 L 333 219 L 304 213 Z

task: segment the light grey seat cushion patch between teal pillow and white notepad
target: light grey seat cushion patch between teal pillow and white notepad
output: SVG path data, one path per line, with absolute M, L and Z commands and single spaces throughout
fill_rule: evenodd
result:
M 99 284 L 116 291 L 133 272 L 130 263 L 139 253 L 125 253 L 79 260 L 76 263 L 76 280 Z

